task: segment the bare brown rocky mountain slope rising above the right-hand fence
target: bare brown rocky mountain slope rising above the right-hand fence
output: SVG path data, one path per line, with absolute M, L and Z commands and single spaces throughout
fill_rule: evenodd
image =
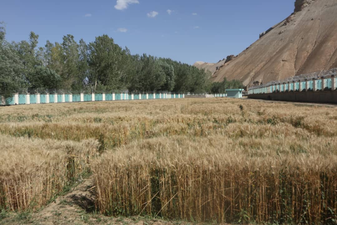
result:
M 244 85 L 337 67 L 337 0 L 296 0 L 294 13 L 267 31 L 229 61 L 194 65 L 211 71 L 214 82 Z

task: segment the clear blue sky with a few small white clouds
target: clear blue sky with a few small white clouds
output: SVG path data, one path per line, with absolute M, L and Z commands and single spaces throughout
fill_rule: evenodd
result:
M 86 43 L 108 34 L 132 54 L 147 53 L 193 64 L 237 55 L 259 33 L 294 11 L 295 0 L 1 0 L 6 39 L 37 33 L 61 42 L 72 34 Z M 171 10 L 167 11 L 167 10 Z M 170 13 L 169 13 L 170 12 Z

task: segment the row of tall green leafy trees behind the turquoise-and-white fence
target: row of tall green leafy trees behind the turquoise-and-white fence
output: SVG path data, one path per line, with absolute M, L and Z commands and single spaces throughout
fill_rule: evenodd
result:
M 8 42 L 0 24 L 0 93 L 19 90 L 65 90 L 209 93 L 217 89 L 211 74 L 186 63 L 151 55 L 132 55 L 108 35 L 87 44 L 71 34 L 62 43 L 47 40 L 38 47 L 39 35 L 28 41 Z M 215 85 L 216 84 L 216 85 Z M 241 83 L 240 83 L 241 84 Z M 218 92 L 215 92 L 218 93 Z

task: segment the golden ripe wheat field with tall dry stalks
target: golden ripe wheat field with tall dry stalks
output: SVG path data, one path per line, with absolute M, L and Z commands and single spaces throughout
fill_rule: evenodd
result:
M 334 108 L 176 99 L 0 108 L 0 207 L 39 208 L 92 173 L 97 210 L 334 224 Z

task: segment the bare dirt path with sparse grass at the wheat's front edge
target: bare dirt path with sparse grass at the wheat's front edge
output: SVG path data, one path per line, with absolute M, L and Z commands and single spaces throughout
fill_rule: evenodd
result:
M 108 217 L 95 212 L 95 186 L 93 177 L 81 181 L 68 194 L 33 214 L 13 214 L 0 225 L 192 225 L 186 221 L 162 221 L 151 217 Z M 204 223 L 200 223 L 204 224 Z

